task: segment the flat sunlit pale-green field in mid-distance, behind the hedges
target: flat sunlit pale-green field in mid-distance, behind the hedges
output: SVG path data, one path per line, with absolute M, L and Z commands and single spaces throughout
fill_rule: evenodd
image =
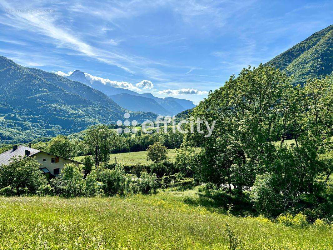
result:
M 168 149 L 168 157 L 170 161 L 174 161 L 174 157 L 176 156 L 175 149 Z M 74 159 L 80 161 L 84 156 L 78 156 Z M 142 165 L 149 165 L 152 161 L 147 161 L 147 152 L 139 151 L 139 152 L 130 152 L 130 153 L 119 153 L 119 154 L 111 154 L 110 155 L 110 163 L 115 163 L 115 157 L 117 159 L 117 163 L 122 163 L 124 165 L 135 165 L 137 163 L 141 163 Z

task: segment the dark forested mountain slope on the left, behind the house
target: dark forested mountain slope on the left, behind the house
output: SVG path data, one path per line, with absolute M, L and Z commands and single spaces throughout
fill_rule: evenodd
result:
M 129 110 L 86 84 L 0 56 L 0 140 L 27 142 L 36 137 L 79 132 L 89 125 L 115 124 Z M 130 119 L 155 119 L 132 112 Z

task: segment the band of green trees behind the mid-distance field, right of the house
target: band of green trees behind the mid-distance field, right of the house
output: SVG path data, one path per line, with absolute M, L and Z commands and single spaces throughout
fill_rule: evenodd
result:
M 98 148 L 98 159 L 100 162 L 106 161 L 109 154 L 145 151 L 155 142 L 161 142 L 168 149 L 179 148 L 183 142 L 184 135 L 176 131 L 172 133 L 168 129 L 164 133 L 161 128 L 160 133 L 156 129 L 152 134 L 144 134 L 138 130 L 136 134 L 118 134 L 107 125 L 95 125 L 80 133 L 70 136 L 58 135 L 52 138 L 42 138 L 32 142 L 32 147 L 49 153 L 60 155 L 66 158 L 75 156 L 96 154 Z M 0 148 L 0 153 L 9 150 L 11 145 Z

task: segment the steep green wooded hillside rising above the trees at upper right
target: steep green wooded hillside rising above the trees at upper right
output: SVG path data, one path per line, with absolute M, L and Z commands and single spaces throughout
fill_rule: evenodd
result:
M 318 31 L 292 48 L 274 57 L 265 65 L 279 68 L 295 84 L 308 78 L 323 78 L 333 72 L 333 25 Z

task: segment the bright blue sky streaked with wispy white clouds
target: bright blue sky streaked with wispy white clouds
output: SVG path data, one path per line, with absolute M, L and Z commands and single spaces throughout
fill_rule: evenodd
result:
M 0 55 L 197 104 L 332 16 L 332 1 L 0 0 Z M 138 85 L 144 80 L 152 85 Z

